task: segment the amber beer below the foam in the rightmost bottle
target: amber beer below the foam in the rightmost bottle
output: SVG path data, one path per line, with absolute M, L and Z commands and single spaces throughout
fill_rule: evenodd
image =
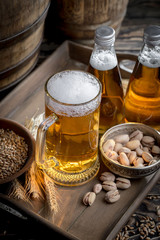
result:
M 137 61 L 125 97 L 126 122 L 141 122 L 160 130 L 160 67 Z

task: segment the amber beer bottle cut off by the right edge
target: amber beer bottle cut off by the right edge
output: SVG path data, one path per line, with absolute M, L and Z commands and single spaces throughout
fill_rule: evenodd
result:
M 143 42 L 125 96 L 125 120 L 160 130 L 160 26 L 147 27 Z

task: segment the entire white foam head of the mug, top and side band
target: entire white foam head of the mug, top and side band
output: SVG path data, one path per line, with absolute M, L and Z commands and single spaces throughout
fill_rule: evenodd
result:
M 48 100 L 54 112 L 68 116 L 94 111 L 100 102 L 96 97 L 101 95 L 100 84 L 95 77 L 82 71 L 64 71 L 54 75 L 48 81 L 47 91 L 58 101 Z

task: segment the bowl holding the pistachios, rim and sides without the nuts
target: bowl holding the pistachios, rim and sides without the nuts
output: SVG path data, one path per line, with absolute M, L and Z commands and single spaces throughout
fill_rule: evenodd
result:
M 160 146 L 160 134 L 158 133 L 158 131 L 141 123 L 124 123 L 124 124 L 116 125 L 108 129 L 100 139 L 100 151 L 102 155 L 102 161 L 111 172 L 119 176 L 126 177 L 126 178 L 141 178 L 154 173 L 160 168 L 160 159 L 152 165 L 138 168 L 133 166 L 123 166 L 120 163 L 117 163 L 116 161 L 107 157 L 106 154 L 104 153 L 103 143 L 107 139 L 114 138 L 115 136 L 120 134 L 126 134 L 126 133 L 130 134 L 137 129 L 142 131 L 144 135 L 149 135 L 154 137 L 157 144 Z

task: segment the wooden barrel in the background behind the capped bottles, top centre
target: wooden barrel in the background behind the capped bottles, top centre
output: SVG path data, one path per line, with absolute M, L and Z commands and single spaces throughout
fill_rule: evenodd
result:
M 94 32 L 108 25 L 118 34 L 128 0 L 56 0 L 57 27 L 69 39 L 93 44 Z

